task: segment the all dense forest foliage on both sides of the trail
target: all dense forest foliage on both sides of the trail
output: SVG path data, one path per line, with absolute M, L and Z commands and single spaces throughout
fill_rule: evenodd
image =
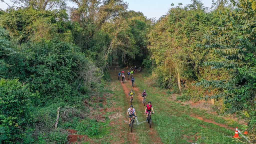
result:
M 151 84 L 178 100 L 238 111 L 255 131 L 256 1 L 217 0 L 211 11 L 199 0 L 172 4 L 157 22 L 123 0 L 13 2 L 0 11 L 1 143 L 65 143 L 70 127 L 97 135 L 83 112 L 102 96 L 114 57 L 152 72 Z M 72 114 L 53 129 L 58 107 Z

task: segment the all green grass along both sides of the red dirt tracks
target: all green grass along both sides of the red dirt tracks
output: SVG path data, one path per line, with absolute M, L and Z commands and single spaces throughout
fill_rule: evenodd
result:
M 154 88 L 143 81 L 147 74 L 136 73 L 135 87 L 139 91 L 135 92 L 135 97 L 133 100 L 133 106 L 137 113 L 137 118 L 139 122 L 143 122 L 146 119 L 144 114 L 145 107 L 141 104 L 140 92 L 143 89 L 147 90 L 148 97 L 146 101 L 152 101 L 154 106 L 155 114 L 152 115 L 152 128 L 150 129 L 148 123 L 142 123 L 140 125 L 135 125 L 133 129 L 133 141 L 139 144 L 146 144 L 148 140 L 154 141 L 154 137 L 149 135 L 150 131 L 156 130 L 156 135 L 161 138 L 163 143 L 205 143 L 205 144 L 215 144 L 215 143 L 228 143 L 236 144 L 239 142 L 233 141 L 234 139 L 230 136 L 234 135 L 234 130 L 229 130 L 224 127 L 204 122 L 203 120 L 191 117 L 190 115 L 195 115 L 202 117 L 204 119 L 211 119 L 219 124 L 225 124 L 230 127 L 241 127 L 236 121 L 225 120 L 216 115 L 207 113 L 205 110 L 200 110 L 197 108 L 190 108 L 189 105 L 183 105 L 179 102 L 171 100 L 172 94 L 168 94 L 168 90 L 161 88 Z M 126 82 L 126 87 L 131 89 L 131 84 Z M 124 120 L 126 111 L 130 106 L 126 93 L 124 93 L 121 83 L 117 80 L 113 80 L 111 83 L 106 84 L 106 90 L 112 93 L 106 100 L 106 105 L 108 109 L 114 109 L 112 112 L 106 112 L 104 116 L 108 117 L 114 114 L 121 114 L 122 116 L 117 119 L 107 120 L 106 123 L 99 122 L 99 134 L 96 136 L 90 136 L 90 138 L 101 144 L 112 144 L 112 143 L 124 143 L 131 144 L 130 129 L 128 124 Z M 112 88 L 112 90 L 110 90 Z M 166 94 L 167 93 L 167 94 Z M 139 100 L 137 97 L 139 97 Z M 119 111 L 116 108 L 121 108 Z M 99 108 L 100 110 L 101 108 Z M 115 110 L 116 109 L 116 110 Z M 111 121 L 117 121 L 116 125 L 110 126 Z M 136 121 L 135 121 L 136 122 Z M 151 141 L 151 142 L 152 142 Z M 155 142 L 157 143 L 157 142 Z M 86 143 L 84 143 L 86 144 Z

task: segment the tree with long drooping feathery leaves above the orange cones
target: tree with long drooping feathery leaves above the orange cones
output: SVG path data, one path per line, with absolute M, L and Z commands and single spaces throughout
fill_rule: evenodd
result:
M 218 88 L 220 93 L 207 98 L 225 97 L 225 104 L 232 107 L 227 113 L 242 111 L 249 117 L 249 127 L 256 126 L 256 59 L 255 59 L 255 26 L 256 7 L 255 1 L 233 1 L 233 6 L 237 8 L 220 13 L 220 18 L 224 20 L 222 26 L 212 26 L 205 35 L 211 41 L 209 47 L 224 58 L 225 61 L 208 61 L 205 65 L 212 66 L 212 69 L 225 68 L 232 74 L 232 77 L 222 80 L 205 80 L 197 85 L 204 85 L 212 89 Z M 252 139 L 255 140 L 255 137 Z

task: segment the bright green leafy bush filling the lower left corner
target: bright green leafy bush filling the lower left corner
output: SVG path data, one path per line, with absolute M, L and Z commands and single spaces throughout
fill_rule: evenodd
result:
M 37 99 L 38 93 L 31 93 L 18 79 L 1 79 L 0 87 L 0 143 L 30 143 L 27 125 L 34 119 L 30 99 Z

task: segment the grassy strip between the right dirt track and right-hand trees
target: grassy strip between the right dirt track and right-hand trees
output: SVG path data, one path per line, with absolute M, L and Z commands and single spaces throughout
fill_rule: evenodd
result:
M 239 143 L 232 141 L 228 136 L 234 135 L 234 130 L 229 130 L 218 125 L 204 122 L 191 117 L 196 115 L 206 119 L 213 119 L 219 124 L 231 127 L 240 127 L 235 121 L 227 121 L 223 118 L 208 114 L 204 110 L 190 108 L 167 97 L 167 90 L 154 88 L 143 81 L 141 74 L 136 77 L 136 84 L 140 90 L 147 90 L 147 101 L 152 101 L 154 110 L 157 112 L 152 116 L 153 124 L 164 143 Z

